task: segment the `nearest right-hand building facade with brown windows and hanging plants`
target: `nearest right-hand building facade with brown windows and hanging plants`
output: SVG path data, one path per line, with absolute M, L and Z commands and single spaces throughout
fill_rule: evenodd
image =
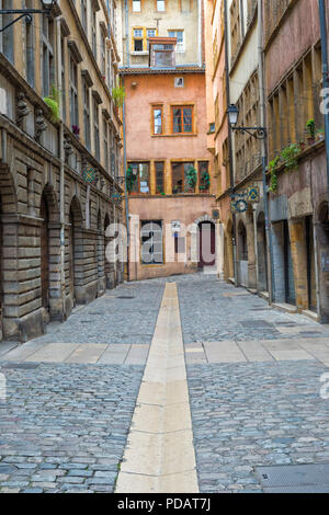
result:
M 328 321 L 328 184 L 317 0 L 286 0 L 280 7 L 264 1 L 264 57 L 275 301 Z

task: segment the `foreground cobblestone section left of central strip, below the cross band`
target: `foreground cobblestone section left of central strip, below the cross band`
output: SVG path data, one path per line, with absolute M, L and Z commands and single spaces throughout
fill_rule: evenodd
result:
M 1 365 L 0 492 L 112 492 L 143 367 Z

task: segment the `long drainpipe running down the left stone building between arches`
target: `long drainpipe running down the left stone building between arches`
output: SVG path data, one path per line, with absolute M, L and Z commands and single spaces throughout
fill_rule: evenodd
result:
M 65 84 L 61 83 L 61 32 L 60 21 L 57 19 L 57 83 L 59 91 L 63 91 Z M 65 157 L 64 157 L 64 105 L 60 102 L 60 125 L 59 125 L 59 145 L 58 153 L 60 160 L 59 176 L 59 211 L 60 211 L 60 290 L 61 290 L 61 317 L 66 318 L 65 312 Z

